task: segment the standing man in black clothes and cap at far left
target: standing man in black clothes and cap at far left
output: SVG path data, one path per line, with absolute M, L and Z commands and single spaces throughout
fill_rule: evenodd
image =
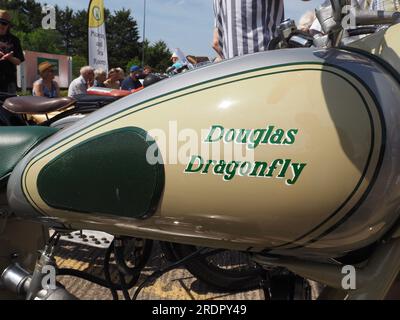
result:
M 0 91 L 16 93 L 17 65 L 24 61 L 21 43 L 10 33 L 11 16 L 0 9 Z

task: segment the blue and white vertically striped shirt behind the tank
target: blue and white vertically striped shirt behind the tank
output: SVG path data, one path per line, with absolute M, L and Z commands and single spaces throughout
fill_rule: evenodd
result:
M 283 0 L 214 0 L 223 58 L 267 50 L 284 19 Z

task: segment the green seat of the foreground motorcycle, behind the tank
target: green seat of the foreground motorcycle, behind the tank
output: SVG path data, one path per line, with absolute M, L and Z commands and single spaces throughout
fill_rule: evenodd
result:
M 0 127 L 0 181 L 41 141 L 58 129 L 50 127 Z

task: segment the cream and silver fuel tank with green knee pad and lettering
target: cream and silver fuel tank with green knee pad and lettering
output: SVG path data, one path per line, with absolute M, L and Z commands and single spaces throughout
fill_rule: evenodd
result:
M 259 53 L 59 131 L 18 164 L 8 199 L 74 229 L 340 256 L 400 216 L 399 126 L 393 68 L 349 50 Z

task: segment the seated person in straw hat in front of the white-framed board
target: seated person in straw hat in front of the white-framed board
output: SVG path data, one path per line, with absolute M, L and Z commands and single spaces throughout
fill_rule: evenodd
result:
M 58 98 L 60 96 L 60 87 L 54 81 L 54 67 L 44 61 L 38 66 L 40 79 L 33 84 L 32 94 L 38 97 Z

